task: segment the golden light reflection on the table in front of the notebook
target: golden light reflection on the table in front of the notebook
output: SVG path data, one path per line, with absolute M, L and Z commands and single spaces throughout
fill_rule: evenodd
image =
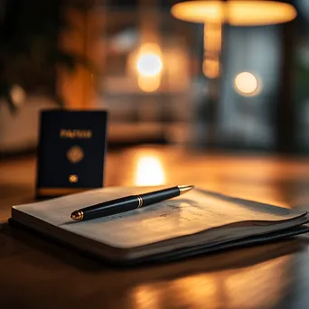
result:
M 278 257 L 252 267 L 137 286 L 132 291 L 134 307 L 272 308 L 278 305 L 288 281 L 289 263 L 290 257 Z

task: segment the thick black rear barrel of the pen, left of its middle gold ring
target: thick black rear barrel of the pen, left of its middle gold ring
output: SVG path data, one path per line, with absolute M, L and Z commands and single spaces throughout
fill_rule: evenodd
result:
M 126 196 L 113 201 L 105 201 L 83 209 L 83 220 L 111 216 L 119 212 L 133 211 L 138 205 L 139 201 L 135 195 Z

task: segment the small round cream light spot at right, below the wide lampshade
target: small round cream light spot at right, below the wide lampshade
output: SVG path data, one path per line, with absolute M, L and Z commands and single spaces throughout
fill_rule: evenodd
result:
M 261 89 L 260 81 L 249 72 L 239 73 L 235 78 L 234 86 L 237 92 L 245 97 L 256 96 Z

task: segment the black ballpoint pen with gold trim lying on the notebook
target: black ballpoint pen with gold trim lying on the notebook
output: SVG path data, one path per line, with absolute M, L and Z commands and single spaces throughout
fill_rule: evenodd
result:
M 70 218 L 77 221 L 91 220 L 124 211 L 133 211 L 137 208 L 154 204 L 155 202 L 172 199 L 192 190 L 193 188 L 193 185 L 178 185 L 169 189 L 148 192 L 140 195 L 130 195 L 112 201 L 104 201 L 78 211 L 73 211 Z

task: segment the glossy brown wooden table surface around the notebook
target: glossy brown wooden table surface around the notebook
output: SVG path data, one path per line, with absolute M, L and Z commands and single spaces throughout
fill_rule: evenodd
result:
M 1 308 L 308 308 L 308 237 L 152 267 L 117 268 L 9 226 L 34 195 L 35 158 L 0 163 Z M 309 160 L 211 155 L 177 147 L 111 152 L 106 186 L 193 183 L 309 209 Z

